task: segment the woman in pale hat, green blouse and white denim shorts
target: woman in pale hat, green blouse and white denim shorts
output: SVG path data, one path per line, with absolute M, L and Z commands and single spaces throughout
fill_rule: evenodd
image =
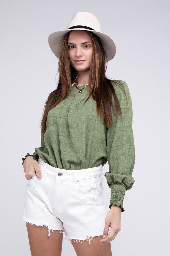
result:
M 59 58 L 59 82 L 45 104 L 41 147 L 22 158 L 31 253 L 61 255 L 64 232 L 77 255 L 110 256 L 125 191 L 134 183 L 129 89 L 124 81 L 106 78 L 116 47 L 91 13 L 75 13 L 67 29 L 52 33 L 48 42 Z M 106 215 L 102 167 L 107 161 Z

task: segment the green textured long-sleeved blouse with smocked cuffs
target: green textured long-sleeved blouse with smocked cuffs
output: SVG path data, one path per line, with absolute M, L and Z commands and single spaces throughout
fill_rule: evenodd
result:
M 122 117 L 111 108 L 113 120 L 111 127 L 107 128 L 104 118 L 101 120 L 97 116 L 96 101 L 92 96 L 83 106 L 87 98 L 88 85 L 81 93 L 78 93 L 78 89 L 73 86 L 75 98 L 70 91 L 64 100 L 48 112 L 46 132 L 44 135 L 41 134 L 41 147 L 35 148 L 31 156 L 36 161 L 40 157 L 53 167 L 67 170 L 86 169 L 100 164 L 104 166 L 108 161 L 109 171 L 105 172 L 104 176 L 111 188 L 109 208 L 112 204 L 121 206 L 124 212 L 125 191 L 132 188 L 135 181 L 132 177 L 135 147 L 132 101 L 127 84 L 121 82 L 124 85 L 129 108 L 124 92 L 113 84 Z M 78 88 L 83 87 L 84 85 Z M 46 106 L 47 104 L 48 102 Z M 30 154 L 27 153 L 25 158 L 27 156 Z M 22 160 L 24 161 L 25 158 Z

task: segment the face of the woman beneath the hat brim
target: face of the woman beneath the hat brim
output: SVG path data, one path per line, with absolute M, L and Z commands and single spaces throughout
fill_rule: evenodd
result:
M 71 31 L 68 38 L 68 54 L 72 67 L 78 71 L 90 69 L 93 53 L 93 42 L 84 30 Z

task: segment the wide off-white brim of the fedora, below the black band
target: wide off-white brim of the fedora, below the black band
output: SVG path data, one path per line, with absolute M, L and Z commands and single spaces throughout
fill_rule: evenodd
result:
M 85 31 L 90 31 L 94 34 L 96 34 L 103 45 L 103 48 L 105 49 L 106 55 L 107 55 L 107 61 L 112 60 L 116 54 L 116 46 L 114 41 L 110 36 L 108 36 L 105 33 L 95 31 L 95 30 L 90 30 L 90 29 L 85 29 L 85 28 L 74 28 L 74 29 L 66 29 L 66 30 L 61 30 L 61 31 L 56 31 L 51 33 L 48 36 L 48 44 L 52 50 L 52 52 L 57 56 L 57 58 L 60 58 L 60 51 L 61 51 L 61 46 L 63 43 L 63 37 L 72 30 L 85 30 Z

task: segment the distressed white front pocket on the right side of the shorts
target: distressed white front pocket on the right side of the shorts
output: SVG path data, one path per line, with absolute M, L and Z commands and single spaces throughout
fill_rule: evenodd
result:
M 93 177 L 89 179 L 78 180 L 78 190 L 83 194 L 100 194 L 102 191 L 103 177 Z

